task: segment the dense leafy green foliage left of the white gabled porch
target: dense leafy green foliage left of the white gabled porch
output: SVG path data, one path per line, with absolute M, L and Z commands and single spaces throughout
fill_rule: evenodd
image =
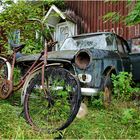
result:
M 4 36 L 0 38 L 0 43 L 7 46 L 7 41 L 12 39 L 13 32 L 20 30 L 20 42 L 24 42 L 27 46 L 24 52 L 33 53 L 34 50 L 40 52 L 42 42 L 39 37 L 38 40 L 35 38 L 35 34 L 41 27 L 37 22 L 29 22 L 28 19 L 43 19 L 52 4 L 56 4 L 58 7 L 64 5 L 63 1 L 57 0 L 19 0 L 16 3 L 13 0 L 2 1 L 4 10 L 0 14 L 0 28 L 4 32 Z

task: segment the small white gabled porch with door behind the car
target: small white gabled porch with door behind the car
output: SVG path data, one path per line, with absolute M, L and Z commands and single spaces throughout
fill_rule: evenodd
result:
M 48 28 L 54 30 L 52 38 L 58 41 L 55 50 L 59 50 L 66 38 L 77 34 L 76 22 L 55 5 L 48 10 L 44 20 Z

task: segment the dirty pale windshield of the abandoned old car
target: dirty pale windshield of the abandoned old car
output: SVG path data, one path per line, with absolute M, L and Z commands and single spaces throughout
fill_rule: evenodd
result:
M 86 48 L 111 50 L 113 48 L 113 36 L 111 34 L 99 34 L 84 37 L 70 37 L 67 38 L 61 50 L 80 50 Z

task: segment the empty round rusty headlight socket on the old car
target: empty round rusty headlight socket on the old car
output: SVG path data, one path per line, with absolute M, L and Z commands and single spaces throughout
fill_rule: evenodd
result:
M 80 69 L 86 69 L 91 63 L 91 54 L 88 50 L 80 50 L 75 55 L 75 64 Z

